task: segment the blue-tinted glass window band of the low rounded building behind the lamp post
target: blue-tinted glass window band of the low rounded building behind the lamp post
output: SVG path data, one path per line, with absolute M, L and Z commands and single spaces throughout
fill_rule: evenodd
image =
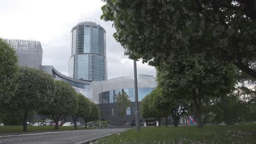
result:
M 138 101 L 141 101 L 146 95 L 151 93 L 153 91 L 154 87 L 139 87 L 138 88 Z M 101 104 L 111 104 L 115 103 L 114 99 L 115 96 L 118 95 L 118 93 L 126 92 L 127 95 L 129 95 L 130 100 L 132 102 L 135 102 L 135 90 L 134 88 L 127 88 L 127 89 L 115 89 L 112 91 L 107 91 L 103 93 L 98 94 L 98 102 Z M 103 95 L 103 97 L 101 96 Z

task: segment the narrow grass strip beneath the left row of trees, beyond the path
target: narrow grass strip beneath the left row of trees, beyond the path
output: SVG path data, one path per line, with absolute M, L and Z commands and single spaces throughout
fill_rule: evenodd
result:
M 22 125 L 13 125 L 13 126 L 1 126 L 0 133 L 17 133 L 22 132 Z M 74 130 L 74 127 L 63 127 L 60 126 L 59 130 Z M 77 129 L 82 130 L 85 129 L 84 127 L 78 127 Z M 91 129 L 91 128 L 89 128 Z M 55 130 L 54 126 L 27 126 L 27 132 L 32 131 L 51 131 Z

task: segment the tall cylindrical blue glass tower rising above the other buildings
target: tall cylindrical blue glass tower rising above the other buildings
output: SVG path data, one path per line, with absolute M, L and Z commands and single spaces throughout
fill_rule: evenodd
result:
M 68 76 L 80 80 L 107 80 L 106 31 L 95 22 L 71 29 Z

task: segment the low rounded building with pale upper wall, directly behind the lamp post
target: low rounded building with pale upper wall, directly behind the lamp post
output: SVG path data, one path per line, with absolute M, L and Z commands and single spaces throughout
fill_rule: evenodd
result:
M 150 75 L 138 75 L 138 101 L 151 93 L 157 83 L 155 77 Z M 96 101 L 101 111 L 101 118 L 110 121 L 112 125 L 123 126 L 123 121 L 135 124 L 135 88 L 134 77 L 121 76 L 107 81 L 92 81 L 92 100 Z M 118 93 L 126 92 L 131 100 L 131 107 L 127 107 L 126 116 L 121 118 L 115 103 Z M 141 118 L 141 122 L 146 119 Z

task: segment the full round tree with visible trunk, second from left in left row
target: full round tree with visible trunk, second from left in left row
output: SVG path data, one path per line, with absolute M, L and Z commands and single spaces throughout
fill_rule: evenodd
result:
M 17 79 L 18 88 L 11 99 L 11 107 L 18 111 L 23 131 L 27 130 L 28 113 L 46 109 L 53 101 L 53 77 L 41 70 L 21 67 Z

